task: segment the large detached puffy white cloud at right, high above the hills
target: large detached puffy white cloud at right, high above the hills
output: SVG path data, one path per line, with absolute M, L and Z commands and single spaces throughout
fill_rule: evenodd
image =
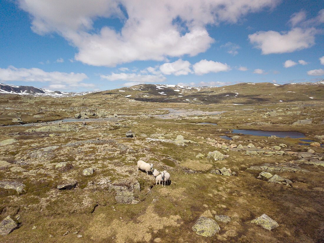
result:
M 262 54 L 294 52 L 315 44 L 315 28 L 294 28 L 288 32 L 259 31 L 249 35 L 250 42 L 262 50 Z

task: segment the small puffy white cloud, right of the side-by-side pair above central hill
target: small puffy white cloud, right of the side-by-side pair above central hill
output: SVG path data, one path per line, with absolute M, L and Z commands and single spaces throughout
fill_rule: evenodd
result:
M 226 63 L 224 64 L 220 62 L 207 61 L 206 59 L 193 64 L 192 67 L 193 71 L 197 75 L 208 74 L 210 72 L 218 73 L 221 71 L 231 70 L 230 66 L 228 66 Z

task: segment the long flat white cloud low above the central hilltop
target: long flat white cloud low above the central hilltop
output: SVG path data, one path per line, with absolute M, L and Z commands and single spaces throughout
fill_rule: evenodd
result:
M 142 74 L 126 74 L 126 73 L 119 73 L 115 74 L 112 73 L 111 75 L 100 75 L 102 79 L 107 79 L 108 81 L 126 81 L 132 83 L 158 83 L 163 82 L 166 80 L 166 77 L 163 75 L 142 75 Z

